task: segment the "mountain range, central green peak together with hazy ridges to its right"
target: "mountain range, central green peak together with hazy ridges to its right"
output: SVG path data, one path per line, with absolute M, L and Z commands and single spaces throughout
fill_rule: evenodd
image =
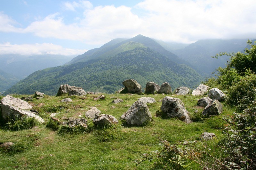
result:
M 123 87 L 122 82 L 128 78 L 136 79 L 144 88 L 148 81 L 159 85 L 168 82 L 173 90 L 178 86 L 194 88 L 205 77 L 211 76 L 211 72 L 227 63 L 227 56 L 219 59 L 211 56 L 220 52 L 243 52 L 246 41 L 200 40 L 188 45 L 166 43 L 143 35 L 131 39 L 114 39 L 72 60 L 61 60 L 65 65 L 37 69 L 28 77 L 23 75 L 26 78 L 4 94 L 32 94 L 40 91 L 55 95 L 62 84 L 80 86 L 86 91 L 113 93 Z M 51 57 L 43 61 L 47 63 L 49 59 Z M 25 64 L 28 67 L 31 65 L 28 61 Z M 9 71 L 13 67 L 9 65 Z M 19 67 L 18 63 L 16 67 Z M 7 72 L 6 69 L 4 71 Z M 16 76 L 21 78 L 22 75 L 17 73 Z

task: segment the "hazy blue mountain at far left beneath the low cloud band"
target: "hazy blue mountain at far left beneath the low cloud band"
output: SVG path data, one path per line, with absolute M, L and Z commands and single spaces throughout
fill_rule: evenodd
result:
M 74 56 L 65 55 L 17 55 L 6 54 L 0 55 L 0 68 L 19 80 L 26 78 L 31 73 L 63 65 L 70 61 Z M 0 84 L 1 85 L 1 84 Z

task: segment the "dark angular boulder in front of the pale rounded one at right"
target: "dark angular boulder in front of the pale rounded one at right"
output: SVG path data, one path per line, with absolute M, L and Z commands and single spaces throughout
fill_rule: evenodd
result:
M 222 105 L 218 100 L 212 100 L 203 110 L 202 115 L 220 115 L 222 112 Z

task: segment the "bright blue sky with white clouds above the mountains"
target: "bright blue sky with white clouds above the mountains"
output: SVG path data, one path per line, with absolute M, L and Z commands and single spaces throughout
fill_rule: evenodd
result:
M 255 39 L 255 0 L 0 0 L 0 55 L 80 55 L 138 34 Z

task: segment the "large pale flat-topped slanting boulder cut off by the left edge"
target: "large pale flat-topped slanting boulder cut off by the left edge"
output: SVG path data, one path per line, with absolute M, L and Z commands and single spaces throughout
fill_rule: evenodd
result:
M 28 102 L 9 95 L 5 96 L 0 102 L 0 110 L 4 122 L 28 116 L 35 117 L 37 121 L 44 123 L 44 119 L 36 115 L 35 112 L 31 112 L 30 109 L 32 109 L 32 106 Z

